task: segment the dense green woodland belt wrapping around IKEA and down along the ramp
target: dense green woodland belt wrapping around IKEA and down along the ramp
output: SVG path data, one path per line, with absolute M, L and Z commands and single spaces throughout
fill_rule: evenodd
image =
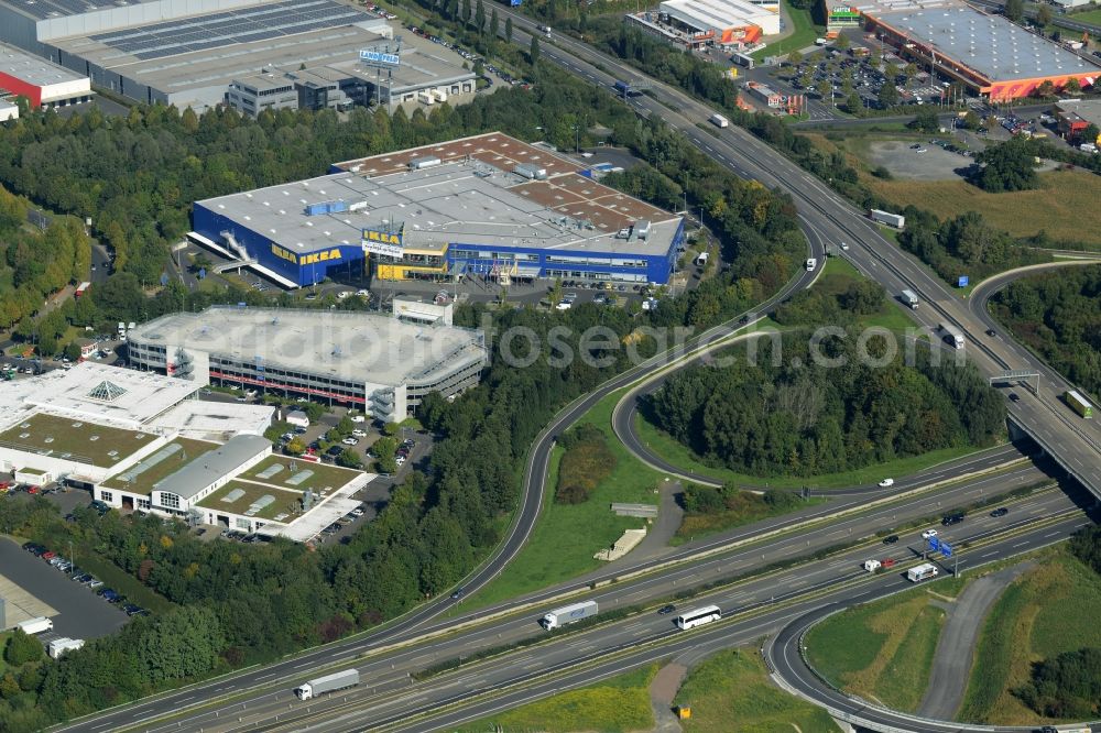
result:
M 578 354 L 585 329 L 601 326 L 620 341 L 630 337 L 646 355 L 656 342 L 640 326 L 717 324 L 793 274 L 805 244 L 791 201 L 730 175 L 661 121 L 637 120 L 611 95 L 553 69 L 541 69 L 531 91 L 502 90 L 459 110 L 443 106 L 411 119 L 361 111 L 347 122 L 328 112 L 280 112 L 250 121 L 217 111 L 193 119 L 164 108 L 140 108 L 124 120 L 94 109 L 65 121 L 34 114 L 0 131 L 0 177 L 51 206 L 98 216 L 96 228 L 119 247 L 121 272 L 57 313 L 75 325 L 137 320 L 219 299 L 259 304 L 288 297 L 189 292 L 176 283 L 150 294 L 149 276 L 157 280 L 165 240 L 184 228 L 192 197 L 314 175 L 333 160 L 492 129 L 531 139 L 539 125 L 550 140 L 573 144 L 568 125 L 582 114 L 587 124 L 606 125 L 614 142 L 647 161 L 613 183 L 666 204 L 687 193 L 713 211 L 713 231 L 730 269 L 688 294 L 663 298 L 648 314 L 596 304 L 566 313 L 477 305 L 460 307 L 457 325 L 478 327 L 488 318 L 494 333 L 524 326 L 543 343 L 550 328 L 566 325 L 570 336 L 558 340 Z M 151 160 L 159 163 L 154 173 L 146 167 Z M 687 192 L 676 183 L 685 169 L 702 172 Z M 92 185 L 99 177 L 102 183 Z M 174 186 L 171 195 L 166 186 Z M 41 497 L 0 503 L 6 532 L 58 548 L 72 540 L 78 555 L 110 560 L 177 606 L 135 617 L 121 634 L 95 639 L 58 661 L 17 655 L 22 661 L 0 676 L 0 730 L 41 729 L 181 680 L 366 630 L 461 579 L 499 540 L 499 517 L 515 506 L 535 435 L 556 409 L 629 365 L 625 350 L 617 348 L 592 351 L 612 357 L 600 366 L 595 359 L 563 366 L 541 352 L 531 366 L 516 369 L 500 358 L 497 340 L 490 347 L 491 365 L 477 389 L 453 403 L 425 401 L 419 417 L 437 436 L 429 464 L 397 486 L 379 517 L 347 545 L 310 551 L 285 541 L 201 543 L 155 517 L 112 512 L 100 518 L 77 510 L 75 522 L 63 522 L 56 506 Z

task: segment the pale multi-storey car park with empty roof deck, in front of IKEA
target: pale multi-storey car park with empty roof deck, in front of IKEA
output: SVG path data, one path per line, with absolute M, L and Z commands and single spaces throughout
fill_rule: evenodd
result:
M 200 384 L 247 385 L 402 420 L 429 392 L 458 394 L 488 362 L 480 331 L 378 314 L 208 308 L 163 316 L 128 335 L 139 369 Z

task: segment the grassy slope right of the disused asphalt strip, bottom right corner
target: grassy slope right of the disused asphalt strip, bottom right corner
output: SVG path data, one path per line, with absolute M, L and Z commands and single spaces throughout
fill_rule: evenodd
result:
M 1101 578 L 1066 548 L 1010 586 L 986 616 L 961 720 L 1034 725 L 1040 718 L 1011 690 L 1027 681 L 1034 661 L 1101 646 Z

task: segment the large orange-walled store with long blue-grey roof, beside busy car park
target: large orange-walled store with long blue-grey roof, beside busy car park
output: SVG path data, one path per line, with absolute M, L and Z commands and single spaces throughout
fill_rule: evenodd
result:
M 1091 87 L 1101 76 L 1089 57 L 958 0 L 826 0 L 826 8 L 831 34 L 864 22 L 903 58 L 994 101 L 1027 97 L 1045 81 Z

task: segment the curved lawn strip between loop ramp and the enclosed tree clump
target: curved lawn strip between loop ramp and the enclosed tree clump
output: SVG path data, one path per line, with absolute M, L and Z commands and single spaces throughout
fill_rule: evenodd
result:
M 635 414 L 635 431 L 642 441 L 654 453 L 683 471 L 715 477 L 735 484 L 766 486 L 770 489 L 847 489 L 849 486 L 875 483 L 884 477 L 903 477 L 925 470 L 937 463 L 962 458 L 975 451 L 974 448 L 944 448 L 923 456 L 900 458 L 886 463 L 876 463 L 862 469 L 853 469 L 842 473 L 828 473 L 815 477 L 770 477 L 762 478 L 738 473 L 722 467 L 711 467 L 700 459 L 690 448 L 673 438 L 669 434 L 656 427 L 641 415 Z

